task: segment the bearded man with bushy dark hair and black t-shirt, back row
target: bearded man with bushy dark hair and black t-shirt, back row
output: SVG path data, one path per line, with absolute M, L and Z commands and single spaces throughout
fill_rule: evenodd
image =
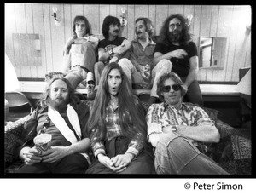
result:
M 203 106 L 197 81 L 198 52 L 191 39 L 189 25 L 183 15 L 170 15 L 160 30 L 160 42 L 156 43 L 154 49 L 154 64 L 168 64 L 184 83 L 183 87 L 187 91 L 184 100 Z M 157 98 L 157 95 L 151 95 L 150 103 L 154 103 Z

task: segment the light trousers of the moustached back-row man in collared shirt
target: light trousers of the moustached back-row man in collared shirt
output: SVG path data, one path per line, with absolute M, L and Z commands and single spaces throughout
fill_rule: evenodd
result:
M 130 60 L 123 58 L 119 60 L 119 65 L 123 68 L 125 75 L 128 77 L 130 83 L 142 84 L 143 77 L 140 72 L 137 71 L 136 67 L 133 66 Z M 171 72 L 172 63 L 170 60 L 160 60 L 152 70 L 151 84 L 153 84 L 150 96 L 158 97 L 156 94 L 157 81 L 159 77 L 165 72 Z

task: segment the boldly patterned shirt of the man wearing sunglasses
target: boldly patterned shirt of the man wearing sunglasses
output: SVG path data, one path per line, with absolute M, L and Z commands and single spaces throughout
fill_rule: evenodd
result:
M 165 102 L 149 106 L 147 113 L 148 136 L 160 134 L 169 125 L 200 126 L 214 125 L 201 107 L 182 103 L 181 109 Z

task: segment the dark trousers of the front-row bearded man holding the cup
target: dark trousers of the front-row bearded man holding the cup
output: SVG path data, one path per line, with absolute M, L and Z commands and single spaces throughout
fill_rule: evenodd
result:
M 89 163 L 81 154 L 72 154 L 55 163 L 34 163 L 24 165 L 16 173 L 37 174 L 84 174 Z

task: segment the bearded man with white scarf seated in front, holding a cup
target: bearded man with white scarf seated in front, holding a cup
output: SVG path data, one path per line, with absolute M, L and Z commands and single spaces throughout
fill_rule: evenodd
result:
M 90 139 L 85 133 L 89 106 L 75 96 L 66 78 L 49 81 L 38 107 L 28 117 L 17 153 L 24 165 L 17 173 L 84 174 L 90 165 L 86 152 Z M 42 152 L 33 138 L 49 134 L 50 148 Z

